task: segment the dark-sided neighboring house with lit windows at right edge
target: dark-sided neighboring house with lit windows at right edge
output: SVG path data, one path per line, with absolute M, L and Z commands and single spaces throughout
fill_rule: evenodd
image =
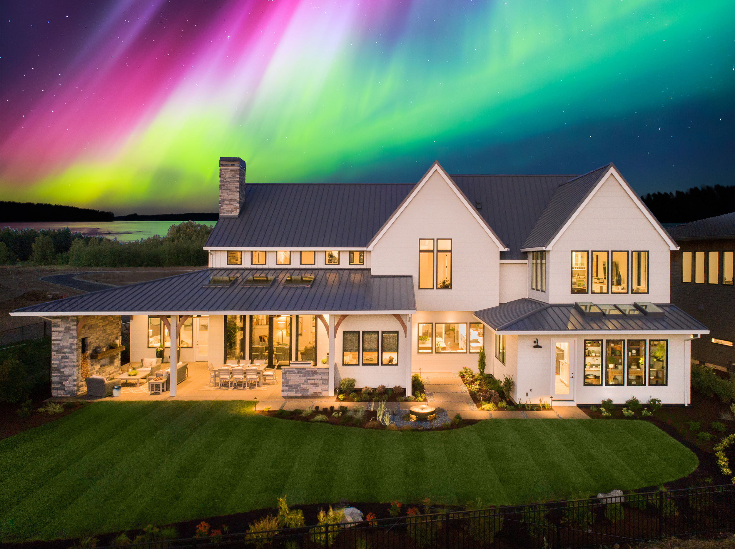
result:
M 692 360 L 720 370 L 735 365 L 735 212 L 670 227 L 671 302 L 709 327 L 692 341 Z

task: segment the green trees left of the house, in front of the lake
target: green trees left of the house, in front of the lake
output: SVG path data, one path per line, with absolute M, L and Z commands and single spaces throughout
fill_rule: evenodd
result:
M 0 231 L 0 265 L 71 267 L 176 267 L 207 265 L 207 242 L 212 227 L 187 221 L 172 225 L 165 237 L 121 243 L 117 239 L 87 237 L 67 229 L 4 228 Z

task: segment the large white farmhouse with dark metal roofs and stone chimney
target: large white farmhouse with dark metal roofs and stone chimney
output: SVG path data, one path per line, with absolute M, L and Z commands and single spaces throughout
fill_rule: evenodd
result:
M 484 347 L 514 398 L 557 405 L 689 403 L 692 334 L 709 333 L 669 304 L 676 244 L 612 164 L 450 176 L 434 162 L 415 185 L 248 184 L 243 160 L 221 158 L 205 249 L 204 270 L 12 312 L 54 318 L 54 395 L 82 387 L 73 342 L 87 315 L 132 315 L 132 362 L 173 329 L 184 361 L 325 364 L 311 394 L 345 377 L 410 390 L 419 369 L 476 370 Z

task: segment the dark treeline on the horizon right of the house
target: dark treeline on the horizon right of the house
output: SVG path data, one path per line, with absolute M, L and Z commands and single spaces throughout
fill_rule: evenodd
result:
M 735 185 L 692 187 L 686 193 L 648 193 L 641 198 L 659 223 L 689 223 L 735 212 Z

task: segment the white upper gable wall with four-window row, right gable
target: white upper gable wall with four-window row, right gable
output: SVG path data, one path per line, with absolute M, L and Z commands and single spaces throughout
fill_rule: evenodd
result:
M 649 293 L 571 293 L 571 253 L 573 250 L 648 251 Z M 629 256 L 630 254 L 628 254 L 628 271 L 631 261 Z M 669 303 L 670 260 L 669 245 L 638 209 L 620 183 L 610 176 L 587 203 L 587 206 L 579 212 L 564 234 L 559 237 L 559 240 L 553 245 L 553 250 L 548 252 L 549 299 L 551 303 L 573 303 L 574 301 Z M 629 287 L 630 281 L 628 281 L 628 290 Z

